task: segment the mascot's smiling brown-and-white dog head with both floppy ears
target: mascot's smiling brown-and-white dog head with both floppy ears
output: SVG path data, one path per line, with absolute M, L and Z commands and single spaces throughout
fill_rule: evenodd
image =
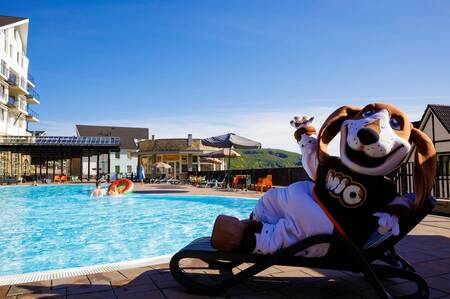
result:
M 342 163 L 371 176 L 385 176 L 397 169 L 414 144 L 416 204 L 421 205 L 431 192 L 436 172 L 433 143 L 394 105 L 343 106 L 334 111 L 319 131 L 319 161 L 328 156 L 328 144 L 338 133 Z

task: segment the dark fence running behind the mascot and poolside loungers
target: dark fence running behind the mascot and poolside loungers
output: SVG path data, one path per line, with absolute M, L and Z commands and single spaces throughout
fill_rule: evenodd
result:
M 191 171 L 188 175 L 205 176 L 207 179 L 222 179 L 226 171 Z M 232 169 L 231 176 L 245 174 L 250 175 L 252 184 L 255 184 L 258 178 L 272 175 L 273 184 L 277 186 L 288 186 L 294 182 L 309 179 L 303 167 L 291 168 L 263 168 L 263 169 Z M 397 191 L 400 194 L 414 192 L 414 163 L 404 163 L 396 172 L 389 175 L 397 185 Z M 437 165 L 437 174 L 432 195 L 440 199 L 450 199 L 450 162 L 439 162 Z

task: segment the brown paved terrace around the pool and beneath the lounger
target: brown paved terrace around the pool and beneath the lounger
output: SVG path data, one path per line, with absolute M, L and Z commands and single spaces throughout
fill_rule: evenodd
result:
M 137 191 L 154 192 L 170 186 L 139 186 Z M 173 187 L 172 187 L 173 188 Z M 258 196 L 248 192 L 218 192 L 178 186 L 190 194 Z M 259 194 L 260 195 L 260 194 Z M 430 298 L 450 298 L 450 218 L 427 216 L 397 246 L 398 252 L 426 278 Z M 198 264 L 193 262 L 192 264 Z M 245 267 L 245 265 L 242 265 Z M 208 273 L 210 270 L 200 270 Z M 212 273 L 213 274 L 213 273 Z M 407 293 L 412 285 L 386 282 L 394 292 Z M 168 265 L 0 286 L 1 298 L 212 298 L 187 294 L 170 275 Z M 377 298 L 361 275 L 320 269 L 273 266 L 253 279 L 216 298 Z

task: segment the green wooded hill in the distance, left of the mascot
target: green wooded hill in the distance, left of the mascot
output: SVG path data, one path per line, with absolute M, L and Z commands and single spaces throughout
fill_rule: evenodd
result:
M 241 157 L 231 159 L 231 169 L 297 167 L 301 155 L 280 149 L 236 150 Z M 228 163 L 225 159 L 225 163 Z

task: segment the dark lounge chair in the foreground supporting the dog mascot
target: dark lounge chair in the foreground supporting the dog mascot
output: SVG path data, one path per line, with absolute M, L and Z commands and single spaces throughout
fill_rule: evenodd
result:
M 172 257 L 170 272 L 175 280 L 188 291 L 216 295 L 272 265 L 352 271 L 364 274 L 380 298 L 428 298 L 429 288 L 426 281 L 415 272 L 414 268 L 406 260 L 396 253 L 394 245 L 419 224 L 434 208 L 435 204 L 436 200 L 430 197 L 418 211 L 410 215 L 407 221 L 401 223 L 399 236 L 380 235 L 378 232 L 374 232 L 362 248 L 358 248 L 353 242 L 339 234 L 316 235 L 302 240 L 291 247 L 280 249 L 273 255 L 260 255 L 221 252 L 211 246 L 210 237 L 199 238 Z M 335 254 L 320 258 L 307 258 L 296 255 L 312 245 L 321 243 L 330 243 Z M 183 259 L 192 258 L 200 259 L 207 263 L 209 269 L 219 270 L 218 277 L 192 279 L 188 272 L 183 271 L 187 271 L 188 268 L 180 267 Z M 384 264 L 375 263 L 377 260 L 384 262 Z M 242 263 L 251 263 L 252 265 L 238 273 L 232 271 L 237 270 L 235 267 Z M 194 271 L 194 276 L 202 273 L 198 271 L 198 268 L 196 270 Z M 205 278 L 205 275 L 207 274 L 200 276 Z M 382 280 L 386 278 L 407 280 L 414 283 L 417 290 L 415 293 L 407 296 L 393 296 L 382 283 Z

